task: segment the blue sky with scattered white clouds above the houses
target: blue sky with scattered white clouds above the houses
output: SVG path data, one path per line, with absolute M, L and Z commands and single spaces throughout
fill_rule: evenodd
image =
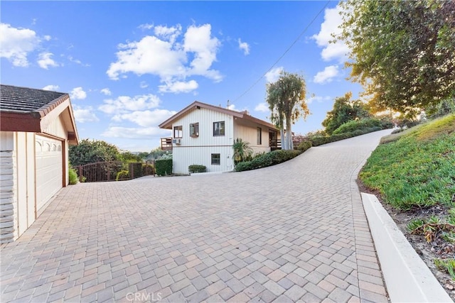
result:
M 284 69 L 306 79 L 312 114 L 293 126 L 304 134 L 360 90 L 346 80 L 346 45 L 328 43 L 340 17 L 338 1 L 326 4 L 2 1 L 1 83 L 68 92 L 80 138 L 149 151 L 171 136 L 159 123 L 195 100 L 268 121 L 265 86 Z

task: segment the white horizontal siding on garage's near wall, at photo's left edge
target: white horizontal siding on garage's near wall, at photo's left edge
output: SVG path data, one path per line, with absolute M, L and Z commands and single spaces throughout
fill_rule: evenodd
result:
M 0 243 L 17 238 L 14 133 L 0 131 Z

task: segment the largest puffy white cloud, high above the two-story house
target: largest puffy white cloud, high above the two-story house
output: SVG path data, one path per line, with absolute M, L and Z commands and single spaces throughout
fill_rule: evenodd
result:
M 186 80 L 191 76 L 203 76 L 215 82 L 223 79 L 218 70 L 210 69 L 220 48 L 218 38 L 211 36 L 210 24 L 189 26 L 184 34 L 180 25 L 154 28 L 155 35 L 118 45 L 117 61 L 112 62 L 106 72 L 110 79 L 126 77 L 129 72 L 156 75 L 164 83 L 161 87 L 166 92 L 176 92 L 170 89 L 176 87 L 182 87 L 180 92 L 191 91 L 188 83 L 194 87 L 196 82 Z

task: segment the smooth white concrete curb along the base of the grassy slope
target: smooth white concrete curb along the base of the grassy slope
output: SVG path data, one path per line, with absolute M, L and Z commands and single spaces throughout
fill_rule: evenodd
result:
M 391 302 L 453 302 L 373 194 L 361 193 Z

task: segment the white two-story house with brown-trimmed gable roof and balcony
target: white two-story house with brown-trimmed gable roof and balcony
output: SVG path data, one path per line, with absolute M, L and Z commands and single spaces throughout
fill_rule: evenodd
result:
M 195 101 L 159 125 L 172 130 L 164 138 L 172 148 L 173 173 L 188 174 L 189 165 L 205 165 L 208 172 L 234 169 L 235 139 L 250 144 L 254 153 L 269 152 L 279 141 L 279 131 L 247 111 L 233 111 Z M 164 148 L 164 146 L 162 147 Z

